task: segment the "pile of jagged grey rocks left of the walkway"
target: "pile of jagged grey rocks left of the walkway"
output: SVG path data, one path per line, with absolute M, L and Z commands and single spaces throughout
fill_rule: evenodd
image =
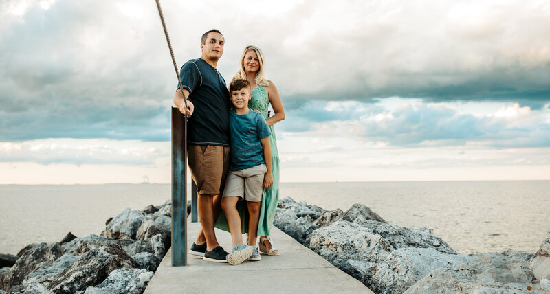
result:
M 127 208 L 98 235 L 0 254 L 1 293 L 143 293 L 170 247 L 172 205 Z M 7 291 L 7 292 L 6 292 Z

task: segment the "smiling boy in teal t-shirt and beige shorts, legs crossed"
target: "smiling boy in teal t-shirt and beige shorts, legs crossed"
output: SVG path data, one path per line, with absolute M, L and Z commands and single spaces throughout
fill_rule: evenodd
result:
M 251 111 L 248 102 L 250 82 L 233 80 L 229 87 L 233 109 L 229 115 L 230 166 L 225 180 L 221 208 L 228 219 L 233 249 L 227 256 L 229 264 L 244 260 L 261 260 L 256 246 L 260 204 L 263 188 L 273 184 L 270 130 L 261 113 Z M 241 217 L 236 203 L 245 199 L 250 214 L 248 246 L 243 244 Z

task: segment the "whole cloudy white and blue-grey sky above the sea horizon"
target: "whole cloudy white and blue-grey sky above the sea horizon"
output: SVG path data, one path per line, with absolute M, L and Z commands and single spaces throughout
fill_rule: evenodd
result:
M 263 50 L 283 182 L 550 179 L 549 1 L 161 4 Z M 0 1 L 0 184 L 170 183 L 176 86 L 155 1 Z

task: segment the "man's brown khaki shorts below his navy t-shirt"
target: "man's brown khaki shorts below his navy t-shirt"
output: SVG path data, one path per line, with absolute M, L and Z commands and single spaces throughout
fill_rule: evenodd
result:
M 219 195 L 229 170 L 229 147 L 188 145 L 187 157 L 199 195 Z

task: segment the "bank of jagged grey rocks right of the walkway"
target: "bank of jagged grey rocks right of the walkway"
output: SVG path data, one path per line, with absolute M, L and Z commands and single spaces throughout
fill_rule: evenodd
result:
M 456 253 L 430 229 L 392 225 L 362 204 L 327 211 L 287 197 L 274 225 L 375 293 L 550 293 L 550 238 L 537 253 Z

